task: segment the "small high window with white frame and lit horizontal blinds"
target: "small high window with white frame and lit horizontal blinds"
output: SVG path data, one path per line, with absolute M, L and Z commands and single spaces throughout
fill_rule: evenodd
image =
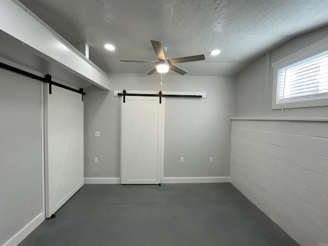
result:
M 309 52 L 311 48 L 273 64 L 273 109 L 328 105 L 328 45 Z

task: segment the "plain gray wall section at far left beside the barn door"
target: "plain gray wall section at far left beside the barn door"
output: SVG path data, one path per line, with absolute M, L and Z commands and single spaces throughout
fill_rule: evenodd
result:
M 41 83 L 0 69 L 0 245 L 41 216 Z M 42 220 L 41 220 L 42 221 Z

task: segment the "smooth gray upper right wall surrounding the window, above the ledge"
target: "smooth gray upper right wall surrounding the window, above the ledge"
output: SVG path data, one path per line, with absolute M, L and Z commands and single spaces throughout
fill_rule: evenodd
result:
M 272 110 L 275 61 L 328 37 L 328 27 L 301 35 L 255 60 L 237 75 L 235 117 L 328 117 L 328 107 Z

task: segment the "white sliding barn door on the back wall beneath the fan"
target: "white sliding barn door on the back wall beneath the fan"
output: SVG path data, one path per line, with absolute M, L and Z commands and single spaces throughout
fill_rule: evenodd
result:
M 121 183 L 160 183 L 162 108 L 158 97 L 121 99 Z

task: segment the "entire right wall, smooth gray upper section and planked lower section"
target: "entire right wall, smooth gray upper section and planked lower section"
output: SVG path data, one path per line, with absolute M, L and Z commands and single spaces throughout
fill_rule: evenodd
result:
M 328 107 L 272 110 L 271 64 L 327 37 L 327 31 L 278 47 L 236 81 L 235 117 L 262 120 L 233 120 L 231 181 L 301 245 L 328 243 L 328 121 L 309 118 L 328 117 Z

